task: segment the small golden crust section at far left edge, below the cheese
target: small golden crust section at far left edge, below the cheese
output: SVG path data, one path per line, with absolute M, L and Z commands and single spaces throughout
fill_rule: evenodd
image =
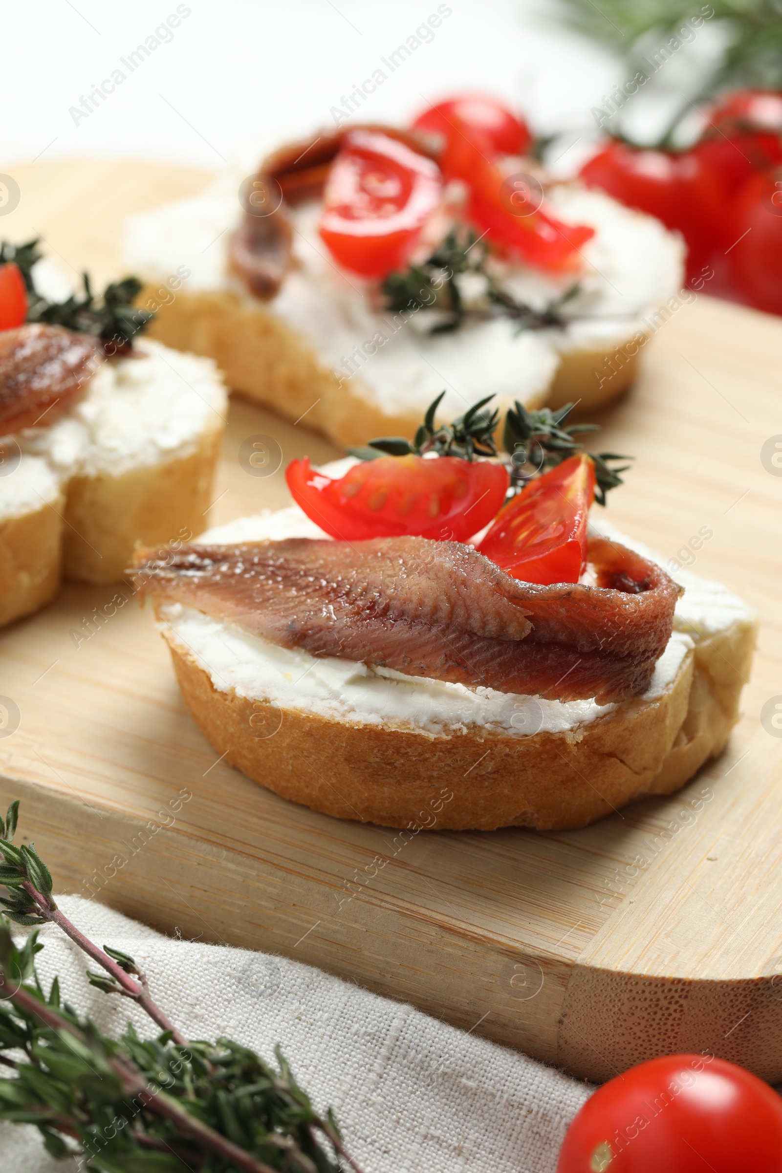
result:
M 0 626 L 45 606 L 57 592 L 64 499 L 0 521 Z

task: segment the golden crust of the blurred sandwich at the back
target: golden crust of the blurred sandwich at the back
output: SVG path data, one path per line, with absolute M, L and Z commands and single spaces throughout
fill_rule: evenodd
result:
M 152 292 L 151 285 L 142 290 L 138 304 Z M 252 304 L 229 290 L 178 293 L 175 301 L 161 306 L 149 333 L 175 350 L 213 358 L 233 391 L 290 420 L 306 413 L 308 427 L 342 448 L 363 445 L 375 435 L 413 439 L 421 422 L 419 411 L 382 412 L 359 375 L 338 380 L 318 361 L 306 338 L 261 301 Z M 630 358 L 625 351 L 635 333 L 607 348 L 564 352 L 552 384 L 528 396 L 525 406 L 562 406 L 580 399 L 580 412 L 621 395 L 637 373 L 637 354 Z M 506 399 L 496 406 L 504 414 L 512 404 Z

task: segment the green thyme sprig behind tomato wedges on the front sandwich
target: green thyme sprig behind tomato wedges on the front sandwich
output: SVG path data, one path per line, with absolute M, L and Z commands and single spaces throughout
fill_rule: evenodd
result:
M 429 405 L 414 440 L 406 440 L 404 436 L 380 436 L 362 448 L 348 448 L 349 454 L 358 456 L 359 460 L 378 460 L 379 456 L 424 456 L 429 452 L 435 452 L 438 456 L 461 456 L 463 460 L 499 459 L 508 465 L 511 491 L 518 493 L 528 481 L 548 473 L 550 468 L 556 468 L 569 456 L 586 452 L 580 440 L 576 439 L 578 435 L 600 430 L 597 423 L 565 426 L 574 404 L 565 404 L 557 411 L 550 407 L 529 411 L 516 400 L 515 406 L 509 408 L 505 415 L 503 427 L 505 452 L 501 454 L 495 440 L 499 412 L 496 408 L 489 411 L 487 407 L 494 395 L 481 399 L 469 412 L 451 423 L 436 426 L 435 414 L 444 394 L 444 391 L 441 392 Z M 630 468 L 630 465 L 617 468 L 613 461 L 633 457 L 616 452 L 590 452 L 590 456 L 594 462 L 597 480 L 594 500 L 604 506 L 606 493 L 624 483 L 619 474 Z

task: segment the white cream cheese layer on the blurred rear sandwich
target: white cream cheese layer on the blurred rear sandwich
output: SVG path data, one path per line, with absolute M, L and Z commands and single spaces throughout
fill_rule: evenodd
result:
M 244 304 L 259 305 L 227 265 L 246 174 L 226 171 L 202 196 L 131 217 L 124 243 L 130 270 L 157 282 L 184 265 L 189 292 L 232 291 Z M 489 393 L 529 404 L 550 386 L 563 351 L 604 350 L 631 338 L 644 330 L 642 316 L 682 280 L 682 242 L 658 221 L 576 183 L 555 184 L 548 198 L 562 219 L 596 229 L 562 328 L 519 332 L 515 321 L 499 318 L 430 334 L 421 328 L 426 310 L 410 317 L 378 312 L 367 283 L 340 270 L 320 239 L 317 202 L 291 211 L 294 267 L 264 307 L 338 377 L 355 374 L 362 392 L 389 415 L 423 411 L 443 388 L 442 418 L 461 414 Z M 503 283 L 519 300 L 543 308 L 573 277 L 509 266 Z

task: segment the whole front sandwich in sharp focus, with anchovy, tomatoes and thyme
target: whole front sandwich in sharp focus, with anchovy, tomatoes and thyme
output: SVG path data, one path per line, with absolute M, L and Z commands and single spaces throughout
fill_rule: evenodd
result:
M 590 522 L 620 469 L 562 412 L 514 409 L 521 466 L 469 416 L 293 461 L 290 508 L 140 552 L 185 703 L 224 760 L 345 819 L 580 827 L 675 791 L 737 718 L 753 613 Z

